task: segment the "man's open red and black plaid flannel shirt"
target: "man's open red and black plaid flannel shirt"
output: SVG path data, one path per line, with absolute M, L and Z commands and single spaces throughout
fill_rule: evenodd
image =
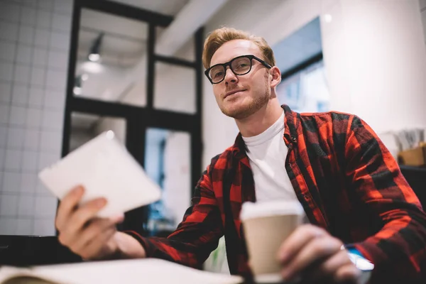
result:
M 283 109 L 286 170 L 310 222 L 375 263 L 372 282 L 425 277 L 426 215 L 376 133 L 351 114 Z M 239 134 L 234 146 L 212 159 L 173 234 L 128 234 L 141 242 L 148 257 L 195 268 L 202 267 L 224 235 L 231 273 L 250 275 L 239 213 L 243 202 L 255 200 Z

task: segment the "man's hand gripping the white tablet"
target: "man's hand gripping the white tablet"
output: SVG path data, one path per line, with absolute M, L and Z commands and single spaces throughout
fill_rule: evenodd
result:
M 75 187 L 60 202 L 55 222 L 60 243 L 84 259 L 144 257 L 145 250 L 136 239 L 116 231 L 124 215 L 97 218 L 107 201 L 99 198 L 79 207 L 83 194 L 83 187 Z

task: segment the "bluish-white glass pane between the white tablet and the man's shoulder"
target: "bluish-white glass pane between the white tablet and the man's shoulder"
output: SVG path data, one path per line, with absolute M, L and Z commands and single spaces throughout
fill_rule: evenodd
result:
M 151 204 L 148 230 L 173 231 L 190 206 L 190 134 L 149 128 L 145 153 L 146 173 L 163 189 L 162 199 Z

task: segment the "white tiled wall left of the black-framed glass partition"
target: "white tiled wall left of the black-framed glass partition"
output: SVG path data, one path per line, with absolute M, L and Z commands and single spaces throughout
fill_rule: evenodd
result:
M 0 0 L 0 234 L 53 235 L 72 0 Z

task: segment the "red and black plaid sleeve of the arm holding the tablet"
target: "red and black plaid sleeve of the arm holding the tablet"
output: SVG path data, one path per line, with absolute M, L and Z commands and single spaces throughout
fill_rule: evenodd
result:
M 138 240 L 147 257 L 162 258 L 193 268 L 201 268 L 223 236 L 222 218 L 209 178 L 209 169 L 197 182 L 192 205 L 178 228 L 167 238 L 143 237 L 135 231 L 126 234 Z

